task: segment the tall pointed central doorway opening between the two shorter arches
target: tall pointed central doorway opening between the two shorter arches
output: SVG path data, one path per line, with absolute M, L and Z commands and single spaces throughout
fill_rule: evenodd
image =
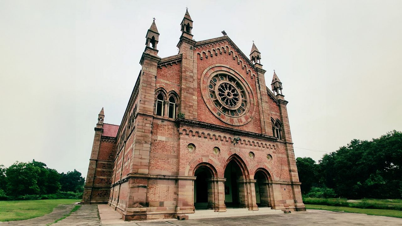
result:
M 244 208 L 244 189 L 238 183 L 238 180 L 244 179 L 242 169 L 238 162 L 232 159 L 228 162 L 225 168 L 225 205 L 228 208 Z

